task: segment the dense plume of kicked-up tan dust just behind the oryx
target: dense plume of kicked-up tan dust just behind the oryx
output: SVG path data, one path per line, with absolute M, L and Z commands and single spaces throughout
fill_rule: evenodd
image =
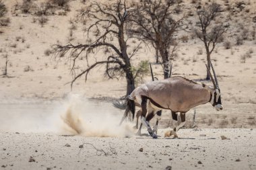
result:
M 129 122 L 119 126 L 121 115 L 113 113 L 110 103 L 95 105 L 88 99 L 73 95 L 65 106 L 65 112 L 60 116 L 63 133 L 90 137 L 126 137 L 135 133 Z

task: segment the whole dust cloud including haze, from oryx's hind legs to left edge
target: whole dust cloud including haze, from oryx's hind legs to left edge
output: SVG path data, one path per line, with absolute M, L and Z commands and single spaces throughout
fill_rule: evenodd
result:
M 64 101 L 36 99 L 0 103 L 0 132 L 133 136 L 129 122 L 118 126 L 123 114 L 111 103 L 69 95 Z

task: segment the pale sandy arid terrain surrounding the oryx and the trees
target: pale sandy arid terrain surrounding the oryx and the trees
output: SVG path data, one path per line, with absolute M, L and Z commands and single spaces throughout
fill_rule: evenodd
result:
M 135 136 L 134 122 L 117 126 L 123 110 L 114 108 L 112 101 L 125 95 L 125 78 L 108 79 L 102 65 L 90 72 L 86 82 L 84 77 L 75 81 L 71 91 L 70 60 L 50 52 L 70 36 L 83 42 L 82 27 L 73 21 L 89 1 L 69 1 L 69 9 L 55 9 L 44 16 L 46 20 L 24 13 L 22 0 L 2 2 L 9 24 L 0 26 L 3 73 L 8 58 L 8 77 L 0 76 L 0 169 L 256 169 L 256 1 L 217 1 L 230 17 L 225 40 L 212 53 L 224 110 L 217 112 L 210 103 L 189 110 L 186 129 L 175 139 L 164 138 L 164 132 L 176 124 L 164 111 L 157 140 L 144 129 L 143 136 Z M 44 0 L 32 2 L 40 6 Z M 191 2 L 183 0 L 179 15 L 192 13 L 187 19 L 193 24 L 196 14 Z M 172 75 L 212 85 L 205 81 L 203 42 L 191 32 L 177 35 L 188 40 L 178 43 Z M 237 42 L 238 36 L 243 43 Z M 154 75 L 163 79 L 154 55 L 144 46 L 131 62 L 150 60 Z M 80 58 L 77 71 L 84 67 L 86 61 Z M 147 81 L 150 74 L 137 85 Z M 195 128 L 191 128 L 194 113 Z M 74 122 L 79 135 L 67 120 Z

